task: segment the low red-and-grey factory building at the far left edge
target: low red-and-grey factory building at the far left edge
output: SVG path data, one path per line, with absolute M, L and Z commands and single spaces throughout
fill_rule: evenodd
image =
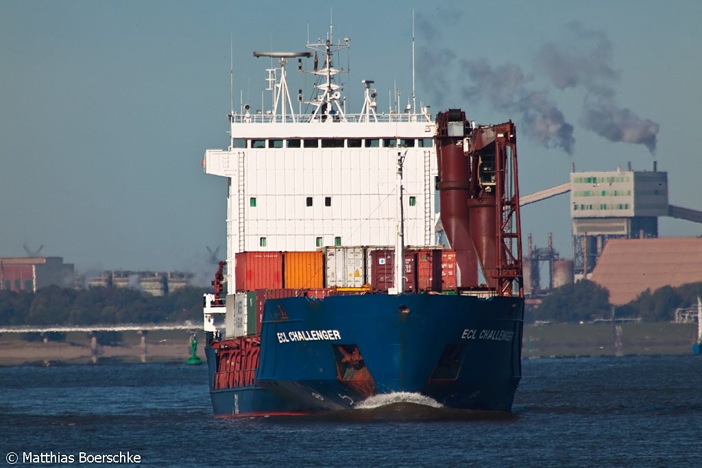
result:
M 72 288 L 75 271 L 61 257 L 0 258 L 0 289 L 36 293 L 46 286 Z

